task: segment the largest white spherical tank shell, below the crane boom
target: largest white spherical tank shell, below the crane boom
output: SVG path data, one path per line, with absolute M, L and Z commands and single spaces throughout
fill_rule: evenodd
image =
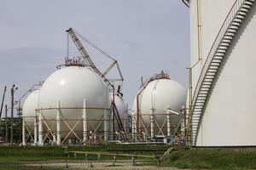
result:
M 61 138 L 64 138 L 70 132 L 69 127 L 73 128 L 82 120 L 84 103 L 88 131 L 94 132 L 104 111 L 110 111 L 109 94 L 108 86 L 89 67 L 69 66 L 55 71 L 46 79 L 39 95 L 39 107 L 54 133 L 57 110 L 53 108 L 61 108 L 61 116 L 67 122 L 61 122 Z M 79 122 L 73 128 L 80 137 L 83 133 L 82 125 Z M 103 131 L 103 123 L 97 130 L 100 131 Z M 73 133 L 69 137 L 73 137 Z

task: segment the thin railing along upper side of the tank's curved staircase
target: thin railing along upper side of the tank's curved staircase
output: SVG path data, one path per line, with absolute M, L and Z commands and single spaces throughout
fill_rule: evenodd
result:
M 200 75 L 199 80 L 195 87 L 195 93 L 193 95 L 193 101 L 192 101 L 192 112 L 194 111 L 196 99 L 201 90 L 202 82 L 204 81 L 204 79 L 207 75 L 207 71 L 212 63 L 212 59 L 214 58 L 215 54 L 217 53 L 218 47 L 220 46 L 220 43 L 222 42 L 225 34 L 227 33 L 227 31 L 230 27 L 230 24 L 233 22 L 233 20 L 236 19 L 236 14 L 239 12 L 239 9 L 241 8 L 241 6 L 243 5 L 243 3 L 245 1 L 246 0 L 236 0 L 236 2 L 233 4 L 232 8 L 230 8 L 230 12 L 227 14 L 227 16 L 223 22 L 223 25 L 221 26 L 220 30 L 218 31 L 217 37 L 215 38 L 214 42 L 212 43 L 212 47 L 211 47 L 209 53 L 207 54 L 207 59 L 205 61 L 205 64 L 201 71 L 201 75 Z

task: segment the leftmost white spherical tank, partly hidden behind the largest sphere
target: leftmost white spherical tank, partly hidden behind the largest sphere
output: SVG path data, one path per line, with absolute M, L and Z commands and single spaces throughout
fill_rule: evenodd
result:
M 40 89 L 34 89 L 31 94 L 29 94 L 22 106 L 22 116 L 28 127 L 30 133 L 34 133 L 34 121 L 36 116 L 36 110 L 38 109 L 38 97 Z

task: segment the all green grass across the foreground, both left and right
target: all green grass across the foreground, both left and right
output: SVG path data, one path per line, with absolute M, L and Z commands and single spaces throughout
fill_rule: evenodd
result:
M 143 154 L 150 154 L 147 150 L 166 150 L 167 146 L 110 144 L 68 148 L 68 150 L 84 151 L 131 150 L 131 153 L 138 149 L 143 149 Z M 22 167 L 17 163 L 17 161 L 73 160 L 74 157 L 67 157 L 64 150 L 61 147 L 3 146 L 0 147 L 0 170 L 67 169 L 66 167 Z M 77 156 L 77 159 L 84 160 L 84 156 Z M 90 159 L 96 159 L 96 156 L 90 156 Z M 113 157 L 105 156 L 103 159 L 111 160 Z M 256 150 L 173 150 L 160 165 L 191 169 L 256 169 Z

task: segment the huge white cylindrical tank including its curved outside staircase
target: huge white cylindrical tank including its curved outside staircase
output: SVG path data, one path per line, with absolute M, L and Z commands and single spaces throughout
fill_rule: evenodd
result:
M 192 146 L 256 146 L 254 0 L 186 0 Z

